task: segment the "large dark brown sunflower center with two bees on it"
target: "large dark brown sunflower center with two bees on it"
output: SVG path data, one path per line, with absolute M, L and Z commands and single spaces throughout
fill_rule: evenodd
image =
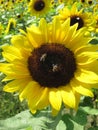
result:
M 74 54 L 61 44 L 45 44 L 35 49 L 28 58 L 28 68 L 33 80 L 41 86 L 59 87 L 74 77 Z

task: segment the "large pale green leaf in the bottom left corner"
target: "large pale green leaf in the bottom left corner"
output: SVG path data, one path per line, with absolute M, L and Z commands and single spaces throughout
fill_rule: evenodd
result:
M 45 114 L 46 112 L 44 112 Z M 47 113 L 46 113 L 47 115 Z M 0 120 L 0 130 L 40 130 L 47 129 L 47 116 L 33 116 L 28 110 L 6 120 Z M 47 129 L 48 130 L 48 129 Z

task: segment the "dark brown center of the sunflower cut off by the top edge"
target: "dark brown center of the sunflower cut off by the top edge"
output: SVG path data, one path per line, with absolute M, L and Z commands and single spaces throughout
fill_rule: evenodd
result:
M 34 9 L 36 11 L 41 11 L 45 7 L 45 2 L 43 0 L 36 0 L 34 4 Z

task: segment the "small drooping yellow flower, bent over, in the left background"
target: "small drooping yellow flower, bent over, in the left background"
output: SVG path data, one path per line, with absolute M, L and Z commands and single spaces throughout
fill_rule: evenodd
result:
M 11 29 L 15 29 L 16 27 L 16 20 L 14 18 L 10 18 L 8 21 L 8 25 L 6 27 L 5 33 L 9 33 Z

